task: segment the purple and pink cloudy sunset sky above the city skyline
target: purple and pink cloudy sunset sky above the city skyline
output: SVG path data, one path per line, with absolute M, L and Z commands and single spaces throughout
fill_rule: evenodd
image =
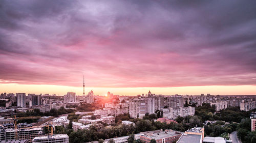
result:
M 0 1 L 0 93 L 256 95 L 256 1 Z

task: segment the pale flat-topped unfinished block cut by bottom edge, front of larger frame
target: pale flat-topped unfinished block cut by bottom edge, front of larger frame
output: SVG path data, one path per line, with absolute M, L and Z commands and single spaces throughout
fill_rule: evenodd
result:
M 39 136 L 35 137 L 32 140 L 33 143 L 46 143 L 46 142 L 63 142 L 63 143 L 69 143 L 69 136 L 67 134 L 55 134 L 55 135 L 49 135 L 49 136 Z

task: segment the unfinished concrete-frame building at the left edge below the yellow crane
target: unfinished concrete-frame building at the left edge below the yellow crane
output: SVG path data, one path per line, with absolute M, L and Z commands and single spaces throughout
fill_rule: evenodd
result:
M 41 128 L 1 129 L 0 130 L 0 141 L 12 140 L 12 139 L 28 139 L 28 142 L 31 142 L 32 139 L 37 136 L 42 136 Z

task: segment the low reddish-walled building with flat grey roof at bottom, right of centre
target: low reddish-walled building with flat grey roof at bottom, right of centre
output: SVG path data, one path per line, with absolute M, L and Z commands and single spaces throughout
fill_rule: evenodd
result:
M 157 143 L 172 143 L 176 142 L 181 134 L 182 132 L 165 130 L 164 132 L 159 133 L 146 133 L 145 135 L 140 136 L 140 140 L 145 143 L 150 143 L 152 139 L 155 139 Z

